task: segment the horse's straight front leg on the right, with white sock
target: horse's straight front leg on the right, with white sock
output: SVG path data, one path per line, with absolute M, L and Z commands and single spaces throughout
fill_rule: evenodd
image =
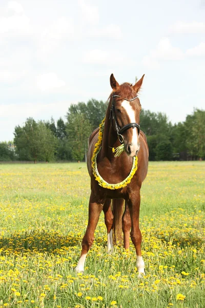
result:
M 131 240 L 135 246 L 137 260 L 136 267 L 138 277 L 145 275 L 145 262 L 141 256 L 141 231 L 139 229 L 139 207 L 140 207 L 140 188 L 137 187 L 135 192 L 132 192 L 128 199 L 128 206 L 131 216 Z

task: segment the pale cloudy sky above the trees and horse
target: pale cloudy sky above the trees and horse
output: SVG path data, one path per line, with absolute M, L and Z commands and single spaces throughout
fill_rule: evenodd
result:
M 205 109 L 205 0 L 0 0 L 0 142 L 27 118 L 106 101 L 110 74 L 172 123 Z

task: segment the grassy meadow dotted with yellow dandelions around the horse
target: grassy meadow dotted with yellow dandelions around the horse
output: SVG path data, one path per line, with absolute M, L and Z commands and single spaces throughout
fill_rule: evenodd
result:
M 106 252 L 103 215 L 85 273 L 85 163 L 0 165 L 0 307 L 205 307 L 205 163 L 156 162 L 141 188 L 146 276 L 135 252 Z

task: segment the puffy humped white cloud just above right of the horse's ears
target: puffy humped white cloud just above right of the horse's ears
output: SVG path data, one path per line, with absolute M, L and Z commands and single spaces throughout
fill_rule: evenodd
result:
M 142 63 L 152 69 L 159 67 L 159 61 L 182 60 L 184 53 L 178 47 L 173 47 L 169 38 L 161 38 L 155 49 L 149 55 L 144 56 Z

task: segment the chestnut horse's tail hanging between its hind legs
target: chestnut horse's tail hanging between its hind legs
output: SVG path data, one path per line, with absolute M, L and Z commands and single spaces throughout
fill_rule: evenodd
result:
M 114 231 L 114 242 L 121 241 L 122 232 L 122 209 L 124 205 L 124 199 L 113 199 L 112 200 L 112 213 L 113 219 L 113 231 Z

